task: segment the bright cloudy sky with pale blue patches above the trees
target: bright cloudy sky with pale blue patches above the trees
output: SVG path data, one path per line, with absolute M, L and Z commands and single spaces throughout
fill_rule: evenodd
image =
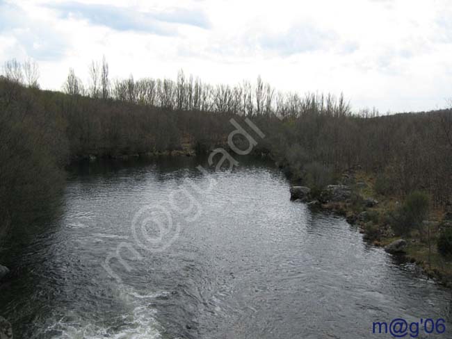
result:
M 43 88 L 69 67 L 278 90 L 344 92 L 353 108 L 442 108 L 452 97 L 449 0 L 0 0 L 0 63 L 33 58 Z

